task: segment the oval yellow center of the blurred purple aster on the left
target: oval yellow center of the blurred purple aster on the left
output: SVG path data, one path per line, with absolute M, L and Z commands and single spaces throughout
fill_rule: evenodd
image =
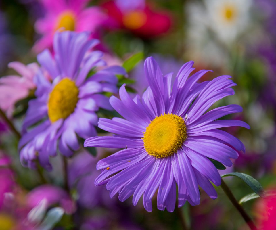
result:
M 76 108 L 78 87 L 69 78 L 62 79 L 53 88 L 48 101 L 48 116 L 52 123 L 67 118 Z

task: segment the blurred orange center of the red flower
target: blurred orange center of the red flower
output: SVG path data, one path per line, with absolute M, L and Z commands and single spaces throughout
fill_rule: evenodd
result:
M 125 27 L 135 30 L 145 25 L 147 15 L 141 11 L 132 11 L 123 16 L 123 24 Z

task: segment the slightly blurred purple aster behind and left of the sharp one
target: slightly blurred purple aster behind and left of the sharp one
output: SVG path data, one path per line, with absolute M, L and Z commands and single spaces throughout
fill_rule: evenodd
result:
M 56 33 L 53 43 L 54 57 L 49 50 L 37 56 L 44 72 L 35 76 L 37 98 L 29 102 L 19 143 L 24 166 L 35 168 L 38 159 L 47 170 L 52 168 L 49 157 L 57 154 L 57 145 L 61 154 L 70 157 L 79 148 L 77 135 L 84 139 L 97 135 L 95 111 L 112 110 L 102 93 L 116 93 L 115 74 L 125 74 L 122 67 L 110 66 L 86 80 L 92 68 L 105 65 L 101 51 L 87 53 L 98 40 L 89 40 L 86 32 Z

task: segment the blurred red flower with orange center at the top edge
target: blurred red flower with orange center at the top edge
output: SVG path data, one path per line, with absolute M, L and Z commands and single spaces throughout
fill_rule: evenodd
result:
M 140 37 L 150 38 L 163 34 L 171 26 L 167 12 L 154 10 L 144 0 L 108 1 L 102 7 L 119 28 L 130 30 Z

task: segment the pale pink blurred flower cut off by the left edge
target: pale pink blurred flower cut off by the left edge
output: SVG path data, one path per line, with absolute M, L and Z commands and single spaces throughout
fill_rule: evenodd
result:
M 10 62 L 9 68 L 13 68 L 19 75 L 9 75 L 0 78 L 0 108 L 11 116 L 16 101 L 28 96 L 29 91 L 35 88 L 34 75 L 39 66 L 31 63 L 25 66 L 20 62 Z

